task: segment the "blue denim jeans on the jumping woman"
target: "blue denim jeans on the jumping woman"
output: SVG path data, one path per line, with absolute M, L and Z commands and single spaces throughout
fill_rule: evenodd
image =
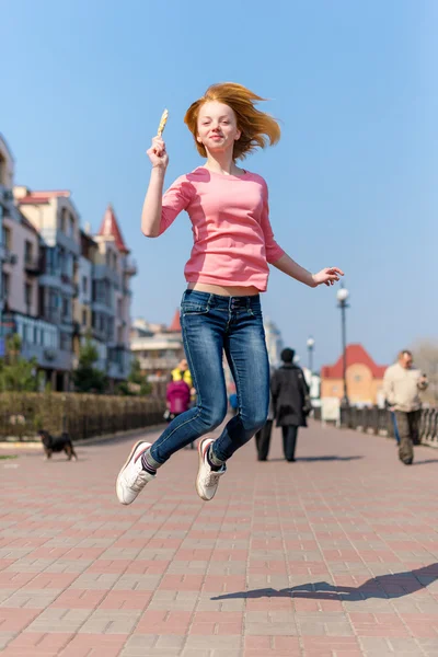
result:
M 224 462 L 265 424 L 269 403 L 269 364 L 262 308 L 254 297 L 222 297 L 186 290 L 181 303 L 184 349 L 197 405 L 166 427 L 150 449 L 151 465 L 216 429 L 227 415 L 223 351 L 239 400 L 239 412 L 212 446 Z

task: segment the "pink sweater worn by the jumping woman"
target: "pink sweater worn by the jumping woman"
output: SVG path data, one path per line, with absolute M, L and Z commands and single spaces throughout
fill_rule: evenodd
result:
M 187 283 L 267 287 L 269 268 L 284 255 L 269 223 L 267 185 L 262 176 L 214 173 L 199 166 L 180 176 L 163 196 L 160 234 L 186 210 L 194 245 Z

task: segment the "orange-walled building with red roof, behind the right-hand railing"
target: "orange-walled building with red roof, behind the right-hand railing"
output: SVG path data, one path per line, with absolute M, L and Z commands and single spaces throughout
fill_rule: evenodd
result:
M 360 344 L 346 349 L 346 379 L 350 404 L 377 404 L 382 401 L 383 374 L 388 366 L 377 365 Z M 321 396 L 344 395 L 343 356 L 334 365 L 321 368 Z

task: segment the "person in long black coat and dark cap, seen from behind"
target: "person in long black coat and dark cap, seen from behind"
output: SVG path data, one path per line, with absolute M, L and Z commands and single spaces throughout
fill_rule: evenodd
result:
M 309 387 L 304 374 L 293 365 L 293 349 L 283 349 L 283 366 L 270 379 L 275 419 L 283 431 L 283 449 L 287 461 L 295 461 L 298 427 L 307 427 L 311 411 Z

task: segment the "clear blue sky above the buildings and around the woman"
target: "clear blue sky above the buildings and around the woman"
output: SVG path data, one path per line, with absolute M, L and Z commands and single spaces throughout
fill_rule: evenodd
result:
M 146 149 L 169 107 L 166 183 L 200 163 L 183 116 L 212 82 L 269 97 L 280 143 L 245 166 L 269 185 L 277 241 L 338 265 L 347 332 L 378 362 L 438 326 L 435 0 L 3 0 L 0 131 L 16 182 L 69 188 L 82 224 L 114 205 L 139 265 L 132 315 L 170 322 L 192 232 L 140 233 Z M 435 256 L 435 260 L 434 260 Z M 274 270 L 265 314 L 306 361 L 335 360 L 335 291 Z

